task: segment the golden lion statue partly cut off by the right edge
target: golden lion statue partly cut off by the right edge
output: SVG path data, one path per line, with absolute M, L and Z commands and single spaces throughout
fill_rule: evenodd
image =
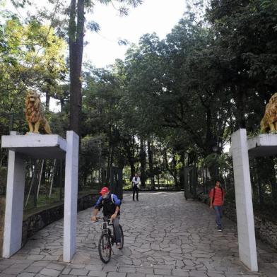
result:
M 269 103 L 266 105 L 266 112 L 264 112 L 260 126 L 263 134 L 267 131 L 277 131 L 277 93 L 271 96 Z

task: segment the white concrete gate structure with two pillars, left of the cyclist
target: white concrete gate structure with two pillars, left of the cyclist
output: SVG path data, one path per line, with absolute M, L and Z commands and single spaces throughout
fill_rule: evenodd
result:
M 71 261 L 76 252 L 78 141 L 73 131 L 66 132 L 66 140 L 54 134 L 19 135 L 16 131 L 1 137 L 1 147 L 9 150 L 3 257 L 11 257 L 22 246 L 25 159 L 65 158 L 63 260 Z

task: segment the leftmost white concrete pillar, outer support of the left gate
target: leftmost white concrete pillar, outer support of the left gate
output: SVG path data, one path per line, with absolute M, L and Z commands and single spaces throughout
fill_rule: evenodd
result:
M 16 132 L 11 132 L 16 135 Z M 21 248 L 25 162 L 15 151 L 8 151 L 6 211 L 3 257 L 9 258 Z

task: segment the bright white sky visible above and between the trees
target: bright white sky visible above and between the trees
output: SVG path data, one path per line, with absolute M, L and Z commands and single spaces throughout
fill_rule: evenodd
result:
M 0 0 L 1 2 L 1 0 Z M 92 14 L 86 15 L 87 22 L 93 20 L 100 25 L 98 33 L 86 31 L 85 41 L 88 42 L 83 51 L 83 61 L 90 61 L 95 67 L 113 64 L 115 59 L 124 59 L 127 46 L 119 46 L 118 40 L 128 40 L 137 44 L 139 38 L 146 33 L 156 33 L 160 39 L 168 33 L 182 18 L 186 11 L 186 0 L 143 0 L 136 8 L 129 8 L 128 16 L 119 16 L 117 7 L 95 4 Z M 114 2 L 115 3 L 115 2 Z M 38 7 L 47 5 L 47 0 L 33 0 Z M 19 13 L 23 19 L 26 11 L 15 9 L 11 0 L 6 0 L 5 8 Z M 33 13 L 35 9 L 29 6 Z M 43 101 L 43 98 L 42 98 Z M 57 102 L 51 98 L 50 110 L 59 112 Z

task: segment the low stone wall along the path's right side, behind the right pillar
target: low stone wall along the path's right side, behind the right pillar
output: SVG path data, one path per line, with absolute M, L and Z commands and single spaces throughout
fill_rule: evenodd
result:
M 206 204 L 208 202 L 208 196 L 205 194 L 199 194 L 199 200 L 203 201 Z M 226 218 L 237 222 L 237 214 L 235 204 L 224 204 L 223 213 Z M 255 233 L 263 242 L 268 243 L 271 247 L 277 249 L 277 223 L 273 222 L 269 218 L 266 218 L 263 215 L 258 214 L 254 211 L 254 223 L 255 223 Z

